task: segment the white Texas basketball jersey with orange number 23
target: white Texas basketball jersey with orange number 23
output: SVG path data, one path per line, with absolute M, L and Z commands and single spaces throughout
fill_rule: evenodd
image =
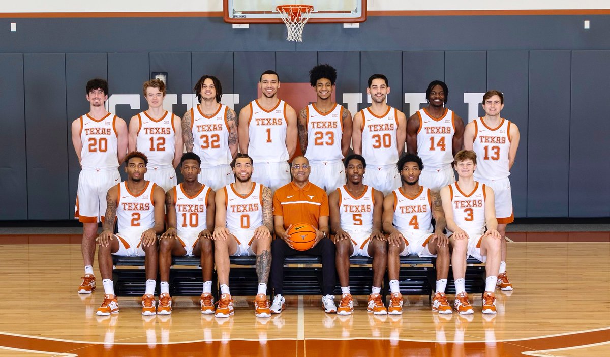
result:
M 335 103 L 334 108 L 322 114 L 315 104 L 307 106 L 307 148 L 305 156 L 312 162 L 342 160 L 341 138 L 343 136 L 343 107 Z

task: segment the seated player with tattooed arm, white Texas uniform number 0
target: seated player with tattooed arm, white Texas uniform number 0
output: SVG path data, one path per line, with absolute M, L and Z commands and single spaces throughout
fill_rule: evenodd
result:
M 267 300 L 273 233 L 271 190 L 252 181 L 252 164 L 252 158 L 248 154 L 237 154 L 231 164 L 235 183 L 224 186 L 216 194 L 216 227 L 213 239 L 221 294 L 216 317 L 229 317 L 234 312 L 229 290 L 229 256 L 246 255 L 256 255 L 259 288 L 254 298 L 254 314 L 257 317 L 271 317 Z

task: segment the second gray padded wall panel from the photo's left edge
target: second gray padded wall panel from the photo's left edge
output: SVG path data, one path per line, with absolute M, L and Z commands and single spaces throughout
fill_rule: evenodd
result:
M 64 54 L 24 54 L 27 217 L 70 218 Z M 42 83 L 52 83 L 52 92 Z M 50 95 L 52 93 L 52 95 Z

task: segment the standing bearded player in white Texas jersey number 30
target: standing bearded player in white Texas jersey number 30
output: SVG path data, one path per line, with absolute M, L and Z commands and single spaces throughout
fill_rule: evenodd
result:
M 387 195 L 400 186 L 400 175 L 394 165 L 404 150 L 406 117 L 386 103 L 390 87 L 386 76 L 373 74 L 368 78 L 367 93 L 371 106 L 354 116 L 351 135 L 355 154 L 367 160 L 369 170 L 364 184 Z

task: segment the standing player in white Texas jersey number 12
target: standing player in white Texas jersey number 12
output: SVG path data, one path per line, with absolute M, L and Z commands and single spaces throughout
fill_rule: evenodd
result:
M 148 157 L 146 179 L 167 192 L 176 186 L 176 167 L 182 156 L 182 123 L 180 117 L 163 109 L 163 81 L 146 81 L 143 91 L 148 110 L 129 121 L 128 150 L 139 150 Z

